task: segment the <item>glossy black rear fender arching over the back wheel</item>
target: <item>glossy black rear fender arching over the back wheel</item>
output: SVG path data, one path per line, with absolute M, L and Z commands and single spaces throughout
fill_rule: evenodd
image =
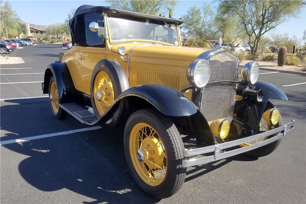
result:
M 44 76 L 43 94 L 49 93 L 49 82 L 51 76 L 54 76 L 58 88 L 58 102 L 73 102 L 74 84 L 66 63 L 52 62 L 47 66 Z

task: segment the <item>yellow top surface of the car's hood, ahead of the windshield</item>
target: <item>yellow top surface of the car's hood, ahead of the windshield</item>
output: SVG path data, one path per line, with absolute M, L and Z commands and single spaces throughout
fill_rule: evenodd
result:
M 152 44 L 118 44 L 111 47 L 114 53 L 118 53 L 118 47 L 124 46 L 126 49 L 125 56 L 130 55 L 130 62 L 137 61 L 143 63 L 154 64 L 167 64 L 165 60 L 178 60 L 186 61 L 189 65 L 192 61 L 195 61 L 200 54 L 207 50 L 207 48 L 197 47 L 184 47 L 184 46 L 164 46 L 164 45 L 152 45 Z M 152 61 L 151 61 L 152 60 Z M 185 63 L 182 66 L 186 66 Z

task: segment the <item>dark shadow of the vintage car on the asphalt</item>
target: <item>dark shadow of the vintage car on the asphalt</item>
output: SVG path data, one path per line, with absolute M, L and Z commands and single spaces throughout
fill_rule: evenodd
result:
M 11 132 L 2 137 L 1 141 L 47 134 L 50 131 L 60 132 L 60 127 L 61 131 L 88 127 L 71 116 L 62 121 L 55 120 L 50 114 L 47 99 L 26 101 L 10 101 L 21 104 L 1 106 L 1 130 Z M 20 114 L 12 114 L 16 112 Z M 129 173 L 124 154 L 123 131 L 123 128 L 113 131 L 102 128 L 18 141 L 3 147 L 29 156 L 18 164 L 19 172 L 24 180 L 41 191 L 66 188 L 95 199 L 83 201 L 92 204 L 159 202 L 142 192 Z M 185 181 L 203 176 L 233 160 L 252 161 L 242 155 L 199 165 L 188 169 Z M 5 166 L 2 168 L 5 171 Z

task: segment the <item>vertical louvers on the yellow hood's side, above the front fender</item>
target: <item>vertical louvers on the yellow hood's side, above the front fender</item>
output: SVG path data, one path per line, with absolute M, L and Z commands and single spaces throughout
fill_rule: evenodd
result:
M 137 84 L 158 83 L 181 90 L 183 75 L 181 73 L 137 68 Z

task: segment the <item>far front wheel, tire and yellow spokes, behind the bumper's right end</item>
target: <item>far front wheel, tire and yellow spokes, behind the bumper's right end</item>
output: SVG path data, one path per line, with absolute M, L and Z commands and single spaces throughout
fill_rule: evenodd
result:
M 271 108 L 275 108 L 274 105 L 268 101 L 266 107 L 265 107 L 265 111 L 268 110 L 268 109 L 271 109 Z M 271 130 L 272 128 L 278 128 L 280 126 L 283 125 L 283 120 L 282 120 L 282 116 L 279 114 L 279 119 L 278 119 L 278 123 L 275 124 L 275 125 L 270 125 L 268 124 L 263 118 L 261 119 L 260 121 L 260 124 L 259 124 L 259 133 L 260 132 L 266 132 L 266 131 L 269 131 Z M 262 140 L 258 141 L 258 140 L 255 140 L 254 143 L 244 143 L 244 144 L 241 144 L 240 146 L 242 147 L 245 147 L 245 146 L 249 146 L 249 145 L 252 145 L 252 144 L 255 144 L 255 143 L 258 143 L 258 142 L 261 142 L 261 141 L 264 141 L 264 140 L 267 140 L 271 137 L 273 137 L 274 135 L 271 135 L 269 137 L 264 137 L 262 138 Z M 259 148 L 256 148 L 254 150 L 251 150 L 251 151 L 248 151 L 248 152 L 245 152 L 244 154 L 248 155 L 248 156 L 251 156 L 251 157 L 255 157 L 255 158 L 258 158 L 258 157 L 264 157 L 264 156 L 267 156 L 268 154 L 271 154 L 277 147 L 278 145 L 281 143 L 281 140 L 282 139 L 279 139 L 279 140 L 276 140 L 275 142 L 272 142 L 270 144 L 267 144 L 263 147 L 259 147 Z

